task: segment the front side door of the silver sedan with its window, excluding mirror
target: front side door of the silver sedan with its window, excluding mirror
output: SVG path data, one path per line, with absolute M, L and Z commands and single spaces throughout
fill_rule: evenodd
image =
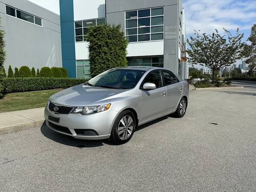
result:
M 156 84 L 154 90 L 143 90 L 144 83 Z M 151 71 L 144 79 L 141 87 L 141 122 L 161 116 L 166 111 L 166 88 L 160 70 Z

